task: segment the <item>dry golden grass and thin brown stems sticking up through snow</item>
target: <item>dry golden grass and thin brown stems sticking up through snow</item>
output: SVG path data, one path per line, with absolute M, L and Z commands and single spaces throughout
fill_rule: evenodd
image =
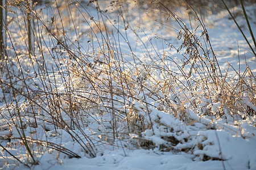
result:
M 200 122 L 205 129 L 217 129 L 214 120 L 219 118 L 255 116 L 255 77 L 250 67 L 245 63 L 242 74 L 231 65 L 225 73 L 220 70 L 207 28 L 196 12 L 201 37 L 166 4 L 154 1 L 180 30 L 179 47 L 162 37 L 182 57 L 175 59 L 155 48 L 149 37 L 151 44 L 146 46 L 123 15 L 113 21 L 98 1 L 87 4 L 97 9 L 96 15 L 78 1 L 61 1 L 61 6 L 58 2 L 53 2 L 57 11 L 53 16 L 30 6 L 37 25 L 32 30 L 34 53 L 30 45 L 15 41 L 26 44 L 31 35 L 25 24 L 27 3 L 14 6 L 18 9 L 9 20 L 19 25 L 20 32 L 11 34 L 13 29 L 6 26 L 11 47 L 7 63 L 13 71 L 6 71 L 1 80 L 5 103 L 1 130 L 6 133 L 1 138 L 6 146 L 1 147 L 10 154 L 12 144 L 22 142 L 24 156 L 11 155 L 19 162 L 38 164 L 46 152 L 57 159 L 79 158 L 81 150 L 94 157 L 102 146 L 188 152 L 203 147 L 204 139 L 181 131 L 183 126 Z M 190 3 L 187 6 L 193 11 Z M 124 12 L 122 6 L 113 7 Z M 127 36 L 131 32 L 150 59 L 136 54 Z M 236 72 L 229 75 L 232 69 Z M 63 134 L 79 146 L 77 152 L 59 144 Z M 193 140 L 199 142 L 190 145 Z M 205 155 L 205 159 L 211 158 Z

